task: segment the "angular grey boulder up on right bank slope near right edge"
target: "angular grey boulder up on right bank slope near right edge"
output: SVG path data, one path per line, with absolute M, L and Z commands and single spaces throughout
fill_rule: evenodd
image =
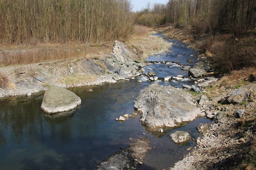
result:
M 240 88 L 237 90 L 234 90 L 230 96 L 228 97 L 228 102 L 233 104 L 240 104 L 243 101 L 245 101 L 247 95 L 249 95 L 249 92 L 247 92 L 245 89 Z

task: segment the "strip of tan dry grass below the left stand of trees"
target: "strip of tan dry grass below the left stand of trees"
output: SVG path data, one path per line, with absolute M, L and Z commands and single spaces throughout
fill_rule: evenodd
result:
M 1 44 L 0 67 L 65 59 L 90 59 L 101 54 L 109 54 L 112 46 L 110 43 L 77 45 L 72 41 L 65 44 L 44 43 L 36 46 Z

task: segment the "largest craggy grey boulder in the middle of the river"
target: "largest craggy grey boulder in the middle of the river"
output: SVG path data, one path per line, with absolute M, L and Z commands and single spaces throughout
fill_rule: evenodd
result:
M 174 127 L 177 123 L 203 116 L 191 100 L 189 92 L 155 83 L 141 91 L 134 107 L 142 112 L 141 121 L 144 125 L 150 128 Z

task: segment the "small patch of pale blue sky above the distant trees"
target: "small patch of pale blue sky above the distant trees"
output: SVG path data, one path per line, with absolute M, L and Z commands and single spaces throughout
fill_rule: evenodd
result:
M 131 0 L 131 4 L 133 5 L 133 11 L 141 11 L 142 8 L 146 8 L 148 2 L 150 2 L 150 7 L 152 7 L 154 3 L 166 4 L 168 1 L 169 0 Z

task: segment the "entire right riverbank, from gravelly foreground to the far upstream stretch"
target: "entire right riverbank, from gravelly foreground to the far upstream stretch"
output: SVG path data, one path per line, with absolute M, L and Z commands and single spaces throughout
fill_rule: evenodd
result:
M 191 44 L 205 61 L 212 56 L 209 50 L 200 49 L 205 39 L 195 41 L 182 29 L 170 29 L 166 35 Z M 196 139 L 197 146 L 171 169 L 255 169 L 255 73 L 255 68 L 232 71 L 221 76 L 218 82 L 203 87 L 201 94 L 194 94 L 201 111 L 212 117 L 213 122 L 207 133 Z M 221 102 L 236 90 L 248 92 L 242 103 Z M 203 105 L 199 102 L 201 95 L 209 100 Z M 237 115 L 240 111 L 241 117 Z

